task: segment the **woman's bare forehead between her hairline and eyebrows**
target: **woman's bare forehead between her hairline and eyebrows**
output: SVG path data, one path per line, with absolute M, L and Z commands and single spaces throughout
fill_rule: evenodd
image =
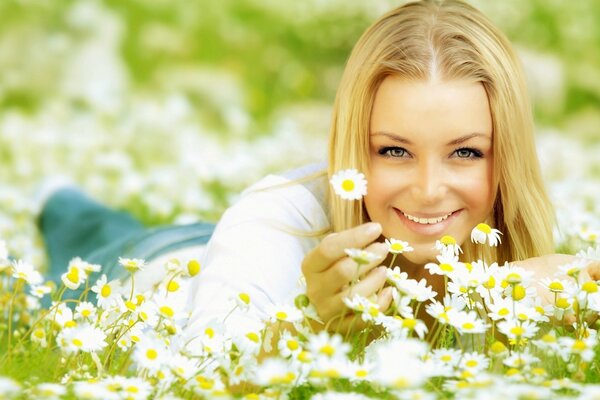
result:
M 375 95 L 370 131 L 423 140 L 470 133 L 491 138 L 487 93 L 481 83 L 468 80 L 406 80 L 388 76 Z

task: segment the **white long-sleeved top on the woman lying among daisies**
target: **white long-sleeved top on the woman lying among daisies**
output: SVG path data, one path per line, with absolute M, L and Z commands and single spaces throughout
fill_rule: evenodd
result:
M 225 328 L 237 334 L 257 331 L 269 306 L 291 303 L 301 293 L 301 263 L 319 239 L 293 232 L 329 227 L 323 206 L 327 179 L 285 184 L 324 168 L 311 165 L 283 176 L 269 175 L 246 189 L 223 214 L 208 243 L 203 269 L 191 285 L 188 333 L 211 320 L 223 322 L 240 293 L 250 296 L 250 309 L 229 315 Z

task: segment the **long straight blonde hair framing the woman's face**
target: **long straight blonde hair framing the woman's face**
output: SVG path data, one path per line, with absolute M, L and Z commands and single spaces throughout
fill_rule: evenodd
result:
M 493 124 L 494 187 L 488 223 L 503 234 L 487 254 L 463 244 L 467 260 L 521 260 L 553 250 L 554 212 L 538 164 L 531 105 L 520 63 L 504 34 L 458 0 L 425 0 L 376 21 L 355 45 L 337 92 L 328 175 L 369 168 L 369 121 L 375 93 L 389 75 L 469 79 L 487 92 Z M 362 202 L 328 196 L 334 232 L 367 222 Z

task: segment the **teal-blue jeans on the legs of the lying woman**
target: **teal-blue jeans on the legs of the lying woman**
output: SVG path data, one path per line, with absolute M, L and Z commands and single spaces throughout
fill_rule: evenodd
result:
M 101 274 L 108 280 L 124 278 L 128 273 L 118 264 L 119 257 L 151 261 L 206 244 L 214 230 L 209 223 L 147 228 L 128 213 L 103 206 L 74 188 L 59 190 L 46 201 L 39 226 L 49 258 L 48 278 L 58 284 L 74 257 L 102 266 L 90 276 L 91 283 Z M 81 290 L 67 293 L 76 298 Z

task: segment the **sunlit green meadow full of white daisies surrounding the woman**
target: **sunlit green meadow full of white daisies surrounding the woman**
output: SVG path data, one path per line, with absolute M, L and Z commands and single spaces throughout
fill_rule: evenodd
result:
M 147 225 L 218 220 L 266 173 L 324 159 L 344 59 L 396 2 L 3 1 L 0 398 L 600 398 L 600 294 L 578 279 L 600 259 L 600 61 L 590 51 L 600 6 L 472 3 L 525 63 L 557 251 L 579 261 L 541 283 L 554 293 L 542 305 L 526 271 L 458 262 L 451 238 L 440 238 L 428 269 L 448 280 L 444 303 L 390 265 L 389 313 L 347 300 L 379 339 L 314 334 L 314 312 L 298 298 L 264 321 L 296 332 L 259 363 L 266 330 L 230 336 L 214 321 L 182 336 L 201 255 L 166 263 L 149 292 L 135 279 L 88 281 L 102 266 L 80 259 L 57 285 L 45 282 L 38 189 L 48 177 L 70 180 Z M 493 243 L 493 227 L 480 228 L 473 240 Z M 391 250 L 410 251 L 395 239 Z M 369 257 L 348 250 L 357 265 Z M 244 293 L 231 299 L 232 312 L 249 307 Z

